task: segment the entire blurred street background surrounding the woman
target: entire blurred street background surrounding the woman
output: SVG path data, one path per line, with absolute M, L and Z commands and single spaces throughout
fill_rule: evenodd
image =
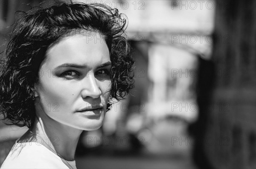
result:
M 79 2 L 126 15 L 136 67 L 131 94 L 82 133 L 77 168 L 256 168 L 256 0 Z M 0 0 L 0 50 L 16 11 L 53 3 Z M 0 122 L 0 165 L 26 130 Z

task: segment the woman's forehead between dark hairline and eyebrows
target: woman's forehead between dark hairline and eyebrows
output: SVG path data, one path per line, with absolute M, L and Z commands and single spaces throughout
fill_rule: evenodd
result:
M 104 37 L 96 32 L 67 36 L 47 50 L 42 65 L 48 68 L 63 63 L 93 66 L 110 61 L 108 46 Z

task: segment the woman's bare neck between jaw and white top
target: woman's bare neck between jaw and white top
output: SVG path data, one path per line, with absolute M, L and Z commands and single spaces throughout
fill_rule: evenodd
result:
M 55 151 L 55 154 L 58 152 L 67 161 L 73 161 L 82 130 L 61 124 L 47 115 L 43 117 L 38 113 L 36 115 L 30 131 L 35 133 L 37 138 L 40 137 L 37 141 L 42 144 L 44 140 L 43 145 L 50 151 Z

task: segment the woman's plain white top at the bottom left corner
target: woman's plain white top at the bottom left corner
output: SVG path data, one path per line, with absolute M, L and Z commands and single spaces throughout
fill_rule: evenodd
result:
M 0 169 L 76 169 L 76 161 L 65 161 L 42 144 L 17 141 Z

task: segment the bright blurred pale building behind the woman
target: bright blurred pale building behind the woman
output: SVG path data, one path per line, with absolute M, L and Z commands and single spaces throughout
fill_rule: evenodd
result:
M 214 6 L 211 0 L 202 4 L 172 0 L 115 4 L 128 18 L 128 38 L 138 61 L 135 96 L 129 97 L 129 104 L 139 107 L 119 119 L 126 118 L 125 131 L 143 138 L 149 152 L 176 153 L 173 138 L 179 138 L 177 149 L 191 148 L 180 140 L 188 142 L 186 127 L 198 118 L 198 62 L 211 57 Z M 159 134 L 161 128 L 166 130 Z

